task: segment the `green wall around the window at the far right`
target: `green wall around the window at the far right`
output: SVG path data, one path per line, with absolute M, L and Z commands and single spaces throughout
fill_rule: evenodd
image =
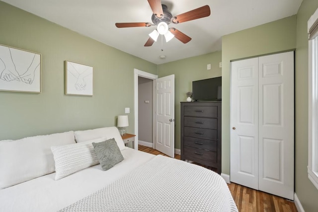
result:
M 297 13 L 295 72 L 295 192 L 306 212 L 318 211 L 318 190 L 308 179 L 308 34 L 307 21 L 318 0 L 303 0 Z

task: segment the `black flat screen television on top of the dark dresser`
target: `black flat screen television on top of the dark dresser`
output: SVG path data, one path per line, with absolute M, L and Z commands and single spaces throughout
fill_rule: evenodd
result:
M 192 81 L 194 101 L 222 101 L 222 76 Z

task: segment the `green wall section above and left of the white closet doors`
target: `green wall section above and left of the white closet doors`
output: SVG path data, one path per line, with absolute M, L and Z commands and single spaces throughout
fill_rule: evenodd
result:
M 296 48 L 296 15 L 222 37 L 222 173 L 230 174 L 230 62 Z

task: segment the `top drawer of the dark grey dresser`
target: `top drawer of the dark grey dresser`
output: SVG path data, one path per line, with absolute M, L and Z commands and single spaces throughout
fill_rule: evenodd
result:
M 184 116 L 218 117 L 218 106 L 184 106 Z

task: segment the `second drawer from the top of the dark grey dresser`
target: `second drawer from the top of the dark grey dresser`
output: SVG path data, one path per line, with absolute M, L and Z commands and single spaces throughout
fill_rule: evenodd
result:
M 184 117 L 184 126 L 217 130 L 218 120 L 210 118 Z

